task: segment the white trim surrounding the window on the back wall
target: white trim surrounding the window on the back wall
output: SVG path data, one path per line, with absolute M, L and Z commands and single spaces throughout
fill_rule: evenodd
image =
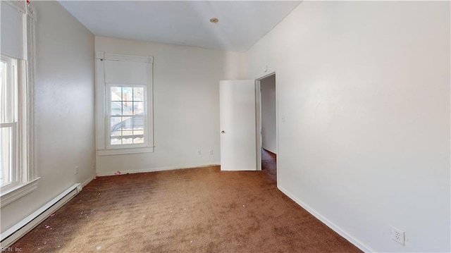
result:
M 147 68 L 146 84 L 146 123 L 145 129 L 147 139 L 144 144 L 111 145 L 109 144 L 109 122 L 107 122 L 107 101 L 109 89 L 112 84 L 105 83 L 104 60 L 109 61 L 132 61 L 149 63 Z M 138 154 L 154 152 L 154 117 L 153 117 L 153 68 L 154 58 L 152 56 L 130 56 L 124 54 L 109 54 L 103 51 L 96 52 L 96 146 L 97 155 L 109 156 L 116 154 Z M 128 84 L 124 84 L 128 85 Z M 132 84 L 130 84 L 132 86 Z M 123 86 L 121 84 L 121 86 Z

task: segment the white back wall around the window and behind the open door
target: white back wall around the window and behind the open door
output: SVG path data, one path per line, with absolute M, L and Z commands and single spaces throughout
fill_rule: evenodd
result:
M 220 163 L 219 81 L 245 78 L 245 53 L 109 37 L 95 50 L 154 56 L 154 152 L 97 156 L 98 175 Z

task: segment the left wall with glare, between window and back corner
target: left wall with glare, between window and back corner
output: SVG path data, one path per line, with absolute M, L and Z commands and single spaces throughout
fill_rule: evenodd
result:
M 1 232 L 94 177 L 94 35 L 56 1 L 34 1 L 35 192 L 1 208 Z M 78 166 L 78 174 L 75 174 Z

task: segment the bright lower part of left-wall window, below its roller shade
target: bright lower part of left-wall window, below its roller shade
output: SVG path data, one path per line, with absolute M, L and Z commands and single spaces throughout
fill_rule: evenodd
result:
M 0 187 L 2 205 L 20 197 L 5 197 L 33 178 L 29 144 L 30 110 L 27 106 L 27 68 L 25 60 L 1 55 L 0 58 Z

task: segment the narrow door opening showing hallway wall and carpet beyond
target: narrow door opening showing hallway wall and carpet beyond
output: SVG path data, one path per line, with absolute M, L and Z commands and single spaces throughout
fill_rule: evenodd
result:
M 277 181 L 276 73 L 257 80 L 259 87 L 259 165 L 269 178 Z

